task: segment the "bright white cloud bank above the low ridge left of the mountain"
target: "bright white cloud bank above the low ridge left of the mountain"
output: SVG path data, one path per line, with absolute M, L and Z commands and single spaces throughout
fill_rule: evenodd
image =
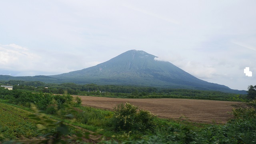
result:
M 0 74 L 12 76 L 54 75 L 81 70 L 101 62 L 94 56 L 0 44 Z

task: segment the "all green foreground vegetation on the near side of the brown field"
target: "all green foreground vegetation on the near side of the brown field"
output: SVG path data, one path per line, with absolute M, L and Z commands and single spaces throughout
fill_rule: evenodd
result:
M 92 135 L 85 128 L 106 137 L 100 142 L 104 144 L 254 144 L 256 100 L 234 105 L 232 114 L 234 119 L 226 124 L 198 124 L 156 118 L 129 103 L 117 105 L 114 111 L 99 110 L 81 106 L 81 100 L 69 94 L 0 88 L 0 142 L 41 136 L 42 142 L 85 143 Z

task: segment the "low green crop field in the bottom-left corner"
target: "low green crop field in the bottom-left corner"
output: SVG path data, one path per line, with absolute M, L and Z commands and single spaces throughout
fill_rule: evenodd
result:
M 32 112 L 0 102 L 0 144 L 2 141 L 9 140 L 18 140 L 17 142 L 33 144 L 46 140 L 44 138 L 46 133 L 41 131 L 40 127 L 48 125 L 49 122 L 47 121 L 53 119 L 40 118 L 41 126 L 38 126 L 39 121 L 31 117 L 33 114 Z M 53 121 L 57 122 L 56 120 Z M 100 141 L 101 136 L 92 131 L 71 124 L 66 125 L 69 128 L 69 134 L 63 137 L 64 140 L 73 139 L 73 136 L 77 137 L 74 134 L 78 132 L 80 134 L 86 133 L 89 136 L 82 138 L 82 142 L 96 143 Z M 56 127 L 57 125 L 51 128 L 54 130 Z

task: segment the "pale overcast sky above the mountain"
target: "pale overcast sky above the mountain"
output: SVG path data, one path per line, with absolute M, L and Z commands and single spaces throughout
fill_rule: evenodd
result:
M 256 0 L 0 1 L 0 74 L 62 74 L 133 49 L 247 90 L 256 85 Z

